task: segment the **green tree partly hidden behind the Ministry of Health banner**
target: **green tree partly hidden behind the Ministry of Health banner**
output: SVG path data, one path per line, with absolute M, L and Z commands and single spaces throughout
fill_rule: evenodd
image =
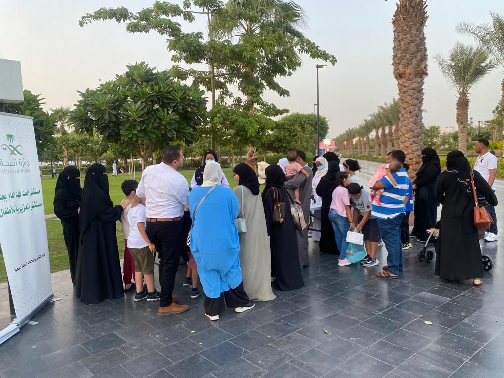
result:
M 39 159 L 43 157 L 44 149 L 54 143 L 54 133 L 56 132 L 56 123 L 54 116 L 50 115 L 42 105 L 44 98 L 41 94 L 35 95 L 28 89 L 23 90 L 23 102 L 18 104 L 6 104 L 7 113 L 22 114 L 33 117 L 33 127 L 35 129 L 35 140 L 37 142 L 37 152 Z

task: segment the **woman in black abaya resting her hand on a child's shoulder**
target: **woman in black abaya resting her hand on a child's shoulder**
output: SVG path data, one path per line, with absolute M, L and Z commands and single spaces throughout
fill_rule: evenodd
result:
M 124 296 L 115 222 L 130 203 L 123 200 L 113 206 L 105 167 L 97 163 L 89 167 L 82 192 L 76 275 L 76 296 L 86 304 Z

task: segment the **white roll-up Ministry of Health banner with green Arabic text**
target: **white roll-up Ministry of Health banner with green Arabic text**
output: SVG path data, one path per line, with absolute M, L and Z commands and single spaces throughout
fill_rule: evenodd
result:
M 0 343 L 52 299 L 33 118 L 0 112 L 0 244 L 16 319 Z M 4 338 L 3 338 L 4 337 Z

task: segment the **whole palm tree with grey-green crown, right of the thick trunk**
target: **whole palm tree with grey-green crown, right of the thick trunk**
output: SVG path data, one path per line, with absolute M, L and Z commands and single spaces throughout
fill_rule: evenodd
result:
M 495 68 L 488 60 L 489 53 L 483 46 L 466 46 L 457 42 L 448 58 L 437 54 L 434 60 L 450 83 L 457 89 L 457 125 L 459 150 L 467 153 L 467 113 L 469 90 L 483 76 Z

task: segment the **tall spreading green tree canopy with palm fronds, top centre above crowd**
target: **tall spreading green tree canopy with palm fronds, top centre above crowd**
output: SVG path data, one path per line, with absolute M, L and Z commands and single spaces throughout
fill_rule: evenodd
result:
M 207 30 L 183 32 L 178 20 L 191 23 L 198 16 L 207 21 Z M 302 10 L 283 0 L 230 0 L 227 4 L 217 0 L 185 0 L 182 7 L 156 2 L 136 14 L 126 8 L 102 8 L 84 15 L 80 25 L 95 20 L 126 22 L 130 33 L 153 31 L 166 36 L 172 60 L 190 66 L 187 69 L 178 65 L 172 67 L 175 77 L 192 78 L 195 85 L 202 85 L 211 93 L 211 119 L 222 113 L 222 109 L 214 111 L 214 106 L 225 105 L 226 100 L 233 97 L 229 90 L 231 85 L 245 97 L 244 101 L 233 102 L 231 113 L 238 111 L 236 107 L 249 111 L 250 117 L 285 113 L 286 110 L 267 104 L 263 93 L 269 89 L 280 96 L 289 95 L 277 78 L 291 76 L 301 66 L 300 54 L 326 60 L 332 65 L 336 63 L 333 55 L 299 31 L 299 26 L 304 24 Z M 202 65 L 208 69 L 202 69 Z M 258 109 L 254 110 L 256 105 Z M 247 123 L 262 123 L 262 120 Z M 222 137 L 219 126 L 211 122 L 207 131 L 214 148 Z M 245 130 L 237 133 L 250 134 L 249 131 L 245 125 Z

